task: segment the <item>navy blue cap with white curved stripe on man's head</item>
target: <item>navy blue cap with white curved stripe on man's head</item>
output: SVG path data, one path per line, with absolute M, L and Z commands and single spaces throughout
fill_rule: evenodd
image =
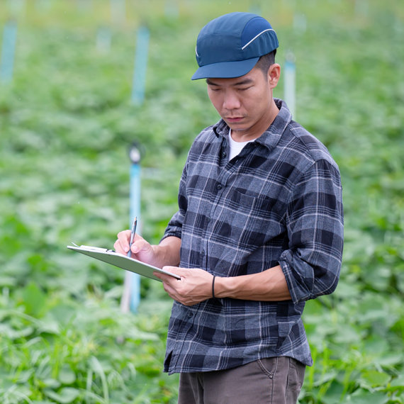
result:
M 225 14 L 201 29 L 196 40 L 199 69 L 192 79 L 244 76 L 259 57 L 277 47 L 276 32 L 265 18 L 252 13 Z

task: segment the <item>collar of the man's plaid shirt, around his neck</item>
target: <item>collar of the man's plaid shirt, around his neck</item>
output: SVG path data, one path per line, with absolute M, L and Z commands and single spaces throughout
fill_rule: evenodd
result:
M 273 149 L 279 140 L 281 139 L 282 133 L 284 133 L 286 127 L 292 120 L 291 111 L 289 111 L 286 102 L 281 99 L 274 98 L 276 106 L 279 108 L 279 113 L 271 123 L 271 126 L 265 130 L 262 135 L 255 139 L 254 141 L 268 147 L 269 150 Z M 213 132 L 219 138 L 226 138 L 229 133 L 229 127 L 223 119 L 220 119 L 218 123 L 213 125 Z

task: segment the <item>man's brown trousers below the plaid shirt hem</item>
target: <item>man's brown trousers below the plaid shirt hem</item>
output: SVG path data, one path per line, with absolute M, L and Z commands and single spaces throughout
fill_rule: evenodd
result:
M 223 371 L 179 376 L 179 404 L 296 404 L 305 365 L 274 357 Z

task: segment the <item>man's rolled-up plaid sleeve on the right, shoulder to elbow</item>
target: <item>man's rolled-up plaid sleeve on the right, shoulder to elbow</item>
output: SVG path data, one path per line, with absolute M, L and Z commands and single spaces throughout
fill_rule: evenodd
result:
M 344 218 L 340 172 L 321 159 L 293 186 L 286 214 L 288 249 L 279 258 L 293 303 L 335 291 Z

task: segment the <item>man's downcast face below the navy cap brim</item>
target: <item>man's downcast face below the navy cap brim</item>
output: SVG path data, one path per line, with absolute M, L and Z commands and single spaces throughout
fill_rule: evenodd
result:
M 274 111 L 272 99 L 272 89 L 276 86 L 271 79 L 274 66 L 269 68 L 268 74 L 254 67 L 242 77 L 206 79 L 209 99 L 230 126 L 235 140 L 259 137 L 274 120 L 278 112 Z

